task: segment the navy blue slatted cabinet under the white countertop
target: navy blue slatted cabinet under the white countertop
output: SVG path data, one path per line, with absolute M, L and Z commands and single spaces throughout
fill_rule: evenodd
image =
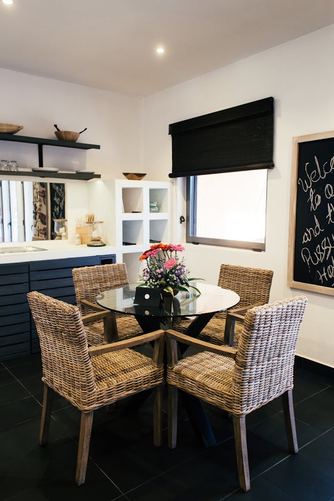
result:
M 40 351 L 29 291 L 75 304 L 72 269 L 115 262 L 112 254 L 0 265 L 0 360 Z

